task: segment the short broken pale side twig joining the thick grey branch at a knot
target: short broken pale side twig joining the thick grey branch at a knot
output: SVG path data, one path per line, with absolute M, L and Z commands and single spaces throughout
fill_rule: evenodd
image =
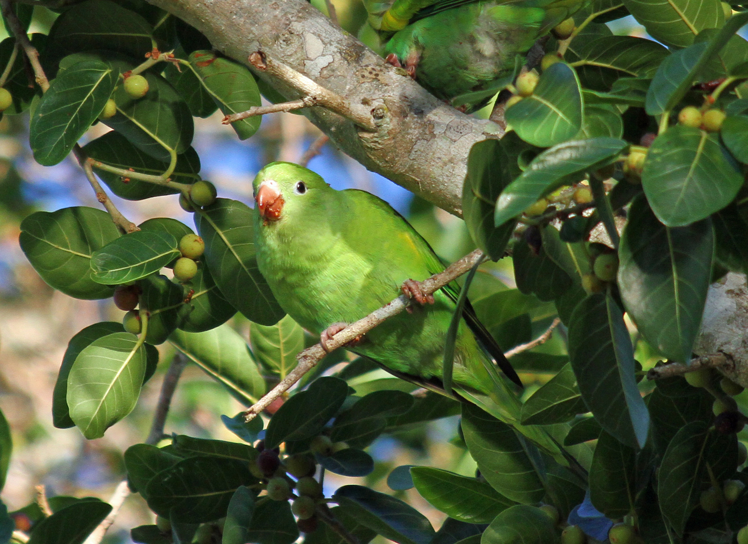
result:
M 322 85 L 307 78 L 307 76 L 301 72 L 297 72 L 295 69 L 286 66 L 286 64 L 283 64 L 282 62 L 272 61 L 261 51 L 256 51 L 249 55 L 249 62 L 260 72 L 266 72 L 269 75 L 281 79 L 283 83 L 290 87 L 293 87 L 299 94 L 301 94 L 303 97 L 302 99 L 313 100 L 313 105 L 334 111 L 335 113 L 352 120 L 362 129 L 366 129 L 369 132 L 377 131 L 376 123 L 374 123 L 374 119 L 370 112 L 364 113 L 352 109 L 350 102 L 343 98 L 343 96 L 340 96 L 329 89 L 325 89 L 325 87 L 322 87 Z

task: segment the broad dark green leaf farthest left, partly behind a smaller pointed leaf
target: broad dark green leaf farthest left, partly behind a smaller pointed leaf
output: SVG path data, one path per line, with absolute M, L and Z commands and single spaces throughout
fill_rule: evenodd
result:
M 114 289 L 92 279 L 91 254 L 120 236 L 111 217 L 76 206 L 37 211 L 21 223 L 21 249 L 42 279 L 71 297 L 111 297 Z

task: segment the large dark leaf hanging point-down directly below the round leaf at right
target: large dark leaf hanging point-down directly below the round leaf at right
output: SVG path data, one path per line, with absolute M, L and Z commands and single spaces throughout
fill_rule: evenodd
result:
M 711 220 L 669 228 L 634 200 L 619 250 L 621 298 L 649 344 L 674 361 L 691 358 L 713 253 Z

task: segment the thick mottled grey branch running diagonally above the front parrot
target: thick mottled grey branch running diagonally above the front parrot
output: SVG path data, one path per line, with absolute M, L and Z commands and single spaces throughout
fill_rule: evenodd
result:
M 452 214 L 462 214 L 462 183 L 473 143 L 500 137 L 435 99 L 304 0 L 148 0 L 206 35 L 215 49 L 247 66 L 262 51 L 348 99 L 377 132 L 324 108 L 302 110 L 343 152 Z M 257 72 L 288 99 L 284 81 Z

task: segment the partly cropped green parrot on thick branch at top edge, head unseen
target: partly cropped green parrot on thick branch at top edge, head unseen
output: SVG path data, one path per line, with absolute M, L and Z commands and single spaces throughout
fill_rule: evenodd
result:
M 512 73 L 515 55 L 588 0 L 364 0 L 384 56 L 444 100 Z M 498 91 L 498 89 L 497 89 Z M 470 113 L 490 100 L 461 109 Z

